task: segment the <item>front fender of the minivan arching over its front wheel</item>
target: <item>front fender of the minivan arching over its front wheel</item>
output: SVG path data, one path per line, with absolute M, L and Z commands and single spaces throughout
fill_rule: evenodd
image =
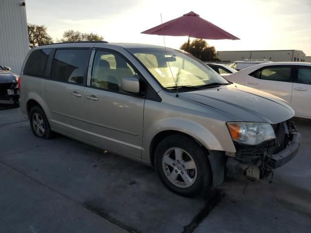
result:
M 225 126 L 226 127 L 226 126 Z M 228 131 L 225 129 L 224 132 Z M 150 144 L 153 138 L 163 131 L 176 131 L 181 133 L 186 133 L 201 143 L 207 150 L 221 150 L 221 151 L 232 151 L 235 152 L 235 147 L 232 143 L 231 137 L 228 134 L 228 139 L 231 143 L 226 141 L 226 145 L 222 143 L 211 133 L 206 127 L 200 125 L 194 121 L 190 121 L 184 118 L 169 117 L 156 121 L 154 124 L 146 127 L 144 125 L 144 136 L 143 136 L 143 150 L 141 159 L 146 162 L 150 161 Z M 224 133 L 225 134 L 225 133 Z M 224 139 L 224 138 L 222 138 Z M 232 144 L 232 145 L 231 145 Z

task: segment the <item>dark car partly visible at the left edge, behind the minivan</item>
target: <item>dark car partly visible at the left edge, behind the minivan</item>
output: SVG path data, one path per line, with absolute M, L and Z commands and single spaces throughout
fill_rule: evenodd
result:
M 10 67 L 0 66 L 0 104 L 18 103 L 19 76 L 10 70 Z

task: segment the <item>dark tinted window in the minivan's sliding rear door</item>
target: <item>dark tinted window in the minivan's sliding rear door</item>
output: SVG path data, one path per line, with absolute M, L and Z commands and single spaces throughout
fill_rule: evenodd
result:
M 82 85 L 86 77 L 89 50 L 56 50 L 51 78 Z

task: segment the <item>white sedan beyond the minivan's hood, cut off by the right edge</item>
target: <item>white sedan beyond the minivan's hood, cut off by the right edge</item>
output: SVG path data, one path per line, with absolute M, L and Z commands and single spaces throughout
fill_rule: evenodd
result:
M 226 79 L 286 100 L 295 116 L 311 119 L 311 63 L 263 63 L 227 75 Z

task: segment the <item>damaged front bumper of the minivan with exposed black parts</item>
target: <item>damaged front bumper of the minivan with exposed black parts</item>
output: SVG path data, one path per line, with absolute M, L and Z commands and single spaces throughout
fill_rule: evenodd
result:
M 279 128 L 282 127 L 284 129 L 281 133 L 276 132 L 276 135 L 278 134 L 276 140 L 263 142 L 257 146 L 236 145 L 237 153 L 234 157 L 229 157 L 225 164 L 227 176 L 234 179 L 246 176 L 258 180 L 267 177 L 273 169 L 291 161 L 299 150 L 301 134 L 295 131 L 293 122 L 282 122 Z

